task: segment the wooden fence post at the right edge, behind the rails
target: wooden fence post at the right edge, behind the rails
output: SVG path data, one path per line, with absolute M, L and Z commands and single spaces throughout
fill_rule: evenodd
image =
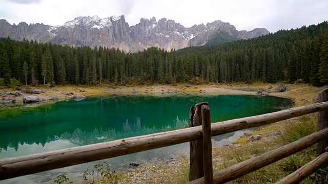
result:
M 318 101 L 328 101 L 328 89 L 320 91 L 318 95 Z M 323 110 L 318 113 L 318 131 L 328 128 L 328 110 Z M 328 147 L 328 139 L 324 139 L 316 144 L 316 156 L 320 156 L 325 152 L 325 148 Z

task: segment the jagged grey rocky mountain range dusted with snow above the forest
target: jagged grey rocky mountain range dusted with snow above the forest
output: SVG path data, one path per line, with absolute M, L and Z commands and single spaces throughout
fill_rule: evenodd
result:
M 11 25 L 7 20 L 0 19 L 0 37 L 9 36 L 15 40 L 25 38 L 72 47 L 114 47 L 125 52 L 138 52 L 149 47 L 177 50 L 267 34 L 269 31 L 265 28 L 238 31 L 221 20 L 186 28 L 172 19 L 161 18 L 156 21 L 155 17 L 141 18 L 138 24 L 129 26 L 124 15 L 108 18 L 79 16 L 59 26 L 28 25 L 26 22 Z

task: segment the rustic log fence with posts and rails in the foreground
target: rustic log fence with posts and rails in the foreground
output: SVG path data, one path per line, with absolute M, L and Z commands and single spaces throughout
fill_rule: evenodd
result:
M 328 147 L 328 89 L 322 90 L 318 97 L 319 103 L 316 104 L 218 123 L 211 123 L 209 104 L 198 103 L 190 108 L 189 128 L 2 159 L 0 180 L 190 142 L 189 183 L 224 183 L 317 143 L 316 159 L 277 182 L 297 183 L 328 162 L 328 153 L 325 152 Z M 314 112 L 319 112 L 317 132 L 213 173 L 211 136 L 268 125 Z

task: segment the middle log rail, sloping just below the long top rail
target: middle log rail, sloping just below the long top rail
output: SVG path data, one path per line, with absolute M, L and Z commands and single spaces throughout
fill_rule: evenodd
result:
M 235 164 L 226 169 L 213 173 L 214 183 L 224 183 L 237 179 L 245 174 L 256 171 L 262 167 L 268 166 L 278 160 L 297 153 L 303 149 L 328 138 L 328 128 L 317 131 L 311 135 L 305 136 L 298 141 L 276 148 L 272 151 L 255 156 L 241 163 Z M 190 181 L 189 184 L 204 183 L 204 177 Z M 284 182 L 281 182 L 284 183 Z

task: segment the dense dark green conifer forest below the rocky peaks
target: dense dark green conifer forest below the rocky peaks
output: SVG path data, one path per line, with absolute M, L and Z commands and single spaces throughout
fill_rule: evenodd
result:
M 35 84 L 176 83 L 279 80 L 328 83 L 328 24 L 281 30 L 212 47 L 138 53 L 36 41 L 0 42 L 0 78 Z

